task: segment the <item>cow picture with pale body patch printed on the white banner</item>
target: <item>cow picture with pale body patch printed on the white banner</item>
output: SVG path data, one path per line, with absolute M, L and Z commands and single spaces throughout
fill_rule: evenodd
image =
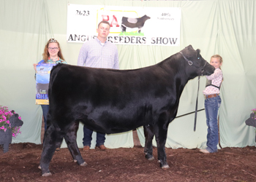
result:
M 127 31 L 127 27 L 129 28 L 138 28 L 138 33 L 140 33 L 141 28 L 143 28 L 144 23 L 146 20 L 150 19 L 147 15 L 143 17 L 122 17 L 121 19 L 121 30 L 122 32 Z

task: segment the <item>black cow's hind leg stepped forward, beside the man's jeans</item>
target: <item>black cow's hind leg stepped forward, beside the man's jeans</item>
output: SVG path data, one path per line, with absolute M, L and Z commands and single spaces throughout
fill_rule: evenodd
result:
M 64 135 L 64 138 L 67 143 L 67 147 L 69 148 L 69 151 L 74 159 L 74 162 L 78 162 L 78 165 L 86 166 L 87 164 L 81 157 L 80 151 L 78 149 L 78 144 L 76 141 L 78 125 L 79 122 L 72 122 L 72 124 L 69 125 L 67 128 L 66 135 Z

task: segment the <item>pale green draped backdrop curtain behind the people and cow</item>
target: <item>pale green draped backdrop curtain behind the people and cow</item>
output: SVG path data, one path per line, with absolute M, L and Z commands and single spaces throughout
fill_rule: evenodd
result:
M 13 143 L 41 143 L 42 109 L 35 105 L 33 63 L 42 60 L 50 38 L 57 39 L 67 63 L 76 65 L 82 44 L 67 43 L 67 4 L 128 7 L 181 7 L 181 45 L 179 47 L 117 45 L 120 68 L 150 66 L 164 60 L 187 45 L 201 50 L 209 60 L 222 55 L 222 105 L 219 109 L 219 132 L 222 147 L 255 145 L 255 129 L 244 123 L 256 107 L 256 4 L 254 0 L 209 1 L 89 1 L 89 0 L 0 0 L 0 105 L 8 106 L 23 119 L 21 134 Z M 200 79 L 198 108 L 204 108 L 202 91 L 206 79 Z M 178 116 L 195 111 L 197 78 L 189 81 L 181 95 Z M 167 147 L 188 149 L 206 146 L 206 116 L 194 114 L 170 123 Z M 83 125 L 78 130 L 82 147 Z M 143 130 L 138 128 L 143 145 Z M 94 135 L 95 137 L 95 135 Z M 93 143 L 94 145 L 94 143 Z M 155 145 L 155 143 L 154 143 Z M 132 147 L 132 132 L 108 135 L 110 148 Z M 65 147 L 63 143 L 62 147 Z

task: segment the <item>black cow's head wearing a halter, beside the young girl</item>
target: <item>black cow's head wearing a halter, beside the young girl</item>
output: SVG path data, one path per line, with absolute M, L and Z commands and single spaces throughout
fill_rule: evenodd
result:
M 192 45 L 189 45 L 180 52 L 181 58 L 186 60 L 186 74 L 189 79 L 193 79 L 196 76 L 207 76 L 214 73 L 214 66 L 211 66 L 200 55 L 200 50 L 194 50 Z

